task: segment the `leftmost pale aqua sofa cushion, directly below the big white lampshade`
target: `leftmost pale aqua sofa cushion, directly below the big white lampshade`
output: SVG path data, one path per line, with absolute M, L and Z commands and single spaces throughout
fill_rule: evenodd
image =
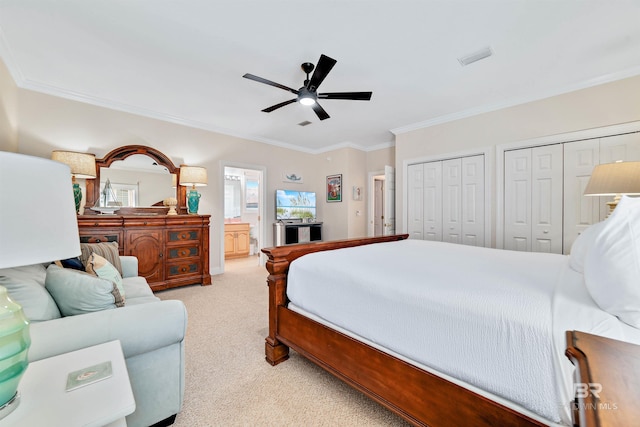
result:
M 0 270 L 0 285 L 9 297 L 22 306 L 24 315 L 31 322 L 61 317 L 60 310 L 44 287 L 46 269 L 43 264 Z

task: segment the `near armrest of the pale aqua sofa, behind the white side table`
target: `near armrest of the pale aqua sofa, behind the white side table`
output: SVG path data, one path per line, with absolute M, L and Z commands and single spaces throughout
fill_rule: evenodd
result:
M 125 306 L 30 325 L 29 361 L 120 340 L 125 358 L 184 340 L 187 310 L 178 300 Z

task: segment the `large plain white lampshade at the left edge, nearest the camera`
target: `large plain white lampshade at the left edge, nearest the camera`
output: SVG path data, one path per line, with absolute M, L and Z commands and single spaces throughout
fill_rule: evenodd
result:
M 0 268 L 80 255 L 69 167 L 0 151 Z

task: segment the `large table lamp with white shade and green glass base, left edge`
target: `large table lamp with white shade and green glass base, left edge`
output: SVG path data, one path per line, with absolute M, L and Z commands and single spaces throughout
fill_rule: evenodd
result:
M 0 268 L 80 255 L 69 173 L 58 162 L 0 151 Z M 0 286 L 0 419 L 20 402 L 30 345 L 22 307 Z

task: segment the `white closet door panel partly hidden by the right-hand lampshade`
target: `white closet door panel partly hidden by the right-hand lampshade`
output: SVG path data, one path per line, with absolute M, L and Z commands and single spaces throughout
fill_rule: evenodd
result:
M 578 235 L 600 220 L 598 197 L 585 197 L 593 168 L 600 163 L 597 139 L 564 145 L 564 253 L 569 254 Z

